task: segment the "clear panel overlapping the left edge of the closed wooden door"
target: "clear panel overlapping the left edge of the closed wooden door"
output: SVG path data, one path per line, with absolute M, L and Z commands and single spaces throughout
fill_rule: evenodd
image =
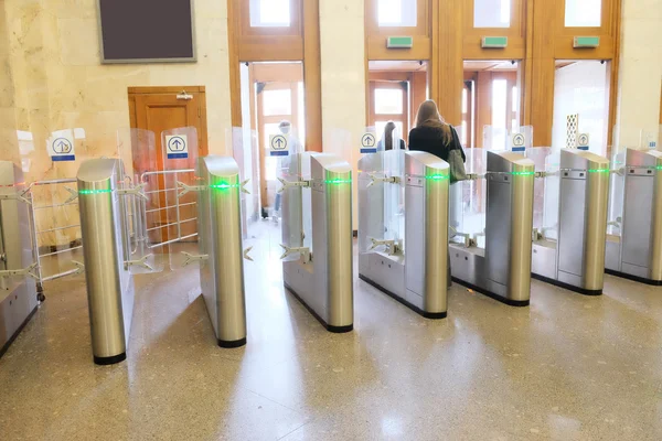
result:
M 125 261 L 131 273 L 160 272 L 168 256 L 160 247 L 152 247 L 150 228 L 153 215 L 161 207 L 158 182 L 156 136 L 149 130 L 120 129 L 117 131 L 117 158 L 121 161 L 118 181 L 120 212 L 122 213 Z

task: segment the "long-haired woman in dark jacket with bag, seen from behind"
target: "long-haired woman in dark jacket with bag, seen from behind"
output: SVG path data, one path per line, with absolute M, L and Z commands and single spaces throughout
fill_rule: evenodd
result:
M 418 108 L 416 127 L 409 132 L 409 150 L 431 153 L 450 164 L 450 182 L 467 179 L 465 162 L 467 157 L 460 143 L 460 138 L 452 126 L 446 123 L 437 104 L 431 99 Z M 450 250 L 448 252 L 448 288 L 452 284 L 450 272 Z

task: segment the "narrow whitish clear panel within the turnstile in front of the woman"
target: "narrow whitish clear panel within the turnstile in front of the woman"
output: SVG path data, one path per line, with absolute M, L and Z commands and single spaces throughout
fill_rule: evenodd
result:
M 384 154 L 384 239 L 405 247 L 405 151 L 391 150 Z M 391 182 L 394 181 L 394 182 Z

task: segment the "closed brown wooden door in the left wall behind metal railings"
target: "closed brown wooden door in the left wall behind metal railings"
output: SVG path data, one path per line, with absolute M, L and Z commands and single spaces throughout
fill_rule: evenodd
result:
M 184 98 L 185 97 L 185 98 Z M 202 87 L 131 87 L 129 88 L 129 111 L 131 128 L 152 131 L 156 139 L 154 163 L 134 164 L 135 170 L 150 170 L 162 172 L 166 170 L 166 159 L 161 133 L 166 130 L 194 127 L 197 130 L 197 152 L 190 151 L 185 162 L 186 169 L 195 169 L 199 155 L 206 155 L 206 97 L 204 86 Z M 191 141 L 189 141 L 191 142 Z M 146 158 L 136 154 L 134 158 Z M 178 175 L 180 181 L 189 182 L 189 175 Z M 196 233 L 196 195 L 190 193 L 177 200 L 177 184 L 172 175 L 157 174 L 149 179 L 150 204 L 147 208 L 147 228 L 150 232 L 151 241 L 166 241 L 171 238 L 188 237 Z M 166 206 L 179 203 L 180 226 L 167 227 L 178 217 L 177 211 L 164 209 Z M 169 222 L 170 218 L 170 222 Z

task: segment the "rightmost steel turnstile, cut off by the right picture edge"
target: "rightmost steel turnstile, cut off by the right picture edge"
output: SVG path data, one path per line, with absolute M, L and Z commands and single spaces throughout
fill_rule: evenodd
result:
M 621 173 L 620 236 L 607 237 L 607 272 L 662 286 L 662 152 L 628 149 Z

